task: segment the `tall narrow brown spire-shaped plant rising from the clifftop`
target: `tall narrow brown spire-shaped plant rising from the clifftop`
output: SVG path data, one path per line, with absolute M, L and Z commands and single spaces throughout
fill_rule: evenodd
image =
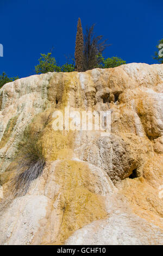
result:
M 83 71 L 83 29 L 80 18 L 78 19 L 78 27 L 77 27 L 77 35 L 76 35 L 76 51 L 75 51 L 75 59 L 76 59 L 76 68 L 75 70 L 78 72 Z

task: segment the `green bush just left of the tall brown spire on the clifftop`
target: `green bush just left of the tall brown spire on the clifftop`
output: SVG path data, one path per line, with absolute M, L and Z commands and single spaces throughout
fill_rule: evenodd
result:
M 66 63 L 62 66 L 57 65 L 54 57 L 51 56 L 52 53 L 42 54 L 39 59 L 39 64 L 35 66 L 36 74 L 44 74 L 47 72 L 72 72 L 74 71 L 74 65 Z

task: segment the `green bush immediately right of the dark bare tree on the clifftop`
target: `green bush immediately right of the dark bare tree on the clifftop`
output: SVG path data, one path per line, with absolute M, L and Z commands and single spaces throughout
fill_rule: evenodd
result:
M 115 68 L 116 66 L 126 64 L 125 60 L 118 57 L 111 57 L 105 59 L 101 53 L 99 53 L 96 57 L 98 63 L 97 68 L 101 69 Z

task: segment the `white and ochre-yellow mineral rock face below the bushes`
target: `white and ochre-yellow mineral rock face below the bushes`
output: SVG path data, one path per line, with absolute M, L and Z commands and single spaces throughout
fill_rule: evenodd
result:
M 55 131 L 65 107 L 110 113 L 110 131 Z M 1 88 L 0 110 L 0 244 L 163 243 L 163 64 L 21 78 Z M 46 164 L 13 196 L 27 127 Z

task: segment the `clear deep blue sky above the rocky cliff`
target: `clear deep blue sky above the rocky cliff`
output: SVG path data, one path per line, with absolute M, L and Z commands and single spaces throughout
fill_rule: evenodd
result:
M 34 74 L 40 53 L 54 46 L 53 56 L 64 64 L 74 54 L 78 17 L 96 23 L 96 35 L 112 44 L 105 57 L 127 63 L 153 64 L 155 45 L 163 38 L 162 0 L 0 0 L 0 74 L 26 77 Z

